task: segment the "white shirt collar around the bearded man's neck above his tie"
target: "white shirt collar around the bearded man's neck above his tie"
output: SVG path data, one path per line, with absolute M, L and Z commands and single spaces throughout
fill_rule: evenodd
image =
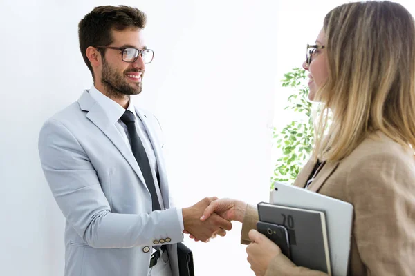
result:
M 115 124 L 120 117 L 124 114 L 125 109 L 120 106 L 116 101 L 113 101 L 109 97 L 105 96 L 93 85 L 89 90 L 89 95 L 102 107 L 107 115 L 109 121 Z M 127 110 L 130 110 L 134 116 L 136 116 L 136 108 L 133 105 L 133 99 L 130 97 Z M 137 118 L 136 118 L 137 119 Z

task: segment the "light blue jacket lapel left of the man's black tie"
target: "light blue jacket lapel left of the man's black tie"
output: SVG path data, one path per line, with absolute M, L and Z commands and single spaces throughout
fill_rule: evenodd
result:
M 100 130 L 104 132 L 104 135 L 106 135 L 108 139 L 110 139 L 114 144 L 114 146 L 118 148 L 122 156 L 128 161 L 134 172 L 136 172 L 142 184 L 144 184 L 144 177 L 142 176 L 142 172 L 138 166 L 136 158 L 133 155 L 133 152 L 125 143 L 115 124 L 109 121 L 101 106 L 94 101 L 87 90 L 84 91 L 84 94 L 82 94 L 78 100 L 78 103 L 80 104 L 80 108 L 82 110 L 88 112 L 86 113 L 86 117 L 91 120 L 95 126 L 100 128 Z

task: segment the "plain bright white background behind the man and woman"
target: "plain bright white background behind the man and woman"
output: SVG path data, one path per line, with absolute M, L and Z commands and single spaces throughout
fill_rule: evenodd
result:
M 77 42 L 84 14 L 104 4 L 147 13 L 156 56 L 136 103 L 163 126 L 176 205 L 213 195 L 257 204 L 268 200 L 270 127 L 291 119 L 281 112 L 288 94 L 280 79 L 301 66 L 324 14 L 342 2 L 1 0 L 0 275 L 63 275 L 64 217 L 37 137 L 92 84 Z M 208 244 L 185 239 L 196 275 L 253 275 L 240 230 L 234 222 Z

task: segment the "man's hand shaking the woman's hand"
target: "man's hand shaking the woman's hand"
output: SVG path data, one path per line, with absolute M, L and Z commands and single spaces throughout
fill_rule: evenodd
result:
M 232 229 L 232 224 L 227 219 L 223 219 L 216 214 L 210 215 L 209 218 L 203 221 L 200 219 L 203 210 L 216 199 L 217 197 L 206 197 L 192 207 L 183 208 L 183 224 L 185 226 L 185 231 L 183 232 L 190 233 L 192 237 L 202 242 L 208 242 L 216 234 L 221 236 L 226 235 L 225 230 Z

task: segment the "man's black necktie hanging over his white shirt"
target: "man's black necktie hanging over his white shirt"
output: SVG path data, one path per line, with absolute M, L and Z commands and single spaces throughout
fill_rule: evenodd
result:
M 133 115 L 133 112 L 126 110 L 120 119 L 127 125 L 127 130 L 131 139 L 131 149 L 133 150 L 133 155 L 136 157 L 142 176 L 144 177 L 147 188 L 151 194 L 151 205 L 153 210 L 161 210 L 156 193 L 156 186 L 154 186 L 153 175 L 151 174 L 149 158 L 147 157 L 145 148 L 142 146 L 140 137 L 138 137 L 137 134 L 136 116 Z

